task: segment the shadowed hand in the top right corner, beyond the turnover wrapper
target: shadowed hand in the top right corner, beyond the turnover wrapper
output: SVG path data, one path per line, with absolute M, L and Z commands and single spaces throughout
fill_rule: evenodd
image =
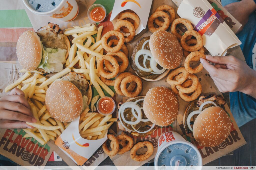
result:
M 237 31 L 240 32 L 244 25 L 248 22 L 249 16 L 256 9 L 256 4 L 253 0 L 242 0 L 224 6 L 224 8 L 241 24 L 242 27 Z

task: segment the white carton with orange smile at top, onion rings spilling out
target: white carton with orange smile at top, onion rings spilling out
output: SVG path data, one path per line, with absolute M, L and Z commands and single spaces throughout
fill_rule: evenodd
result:
M 118 18 L 118 14 L 126 9 L 133 10 L 140 18 L 140 25 L 136 29 L 135 35 L 140 33 L 143 29 L 147 27 L 147 20 L 151 8 L 153 0 L 136 0 L 136 1 L 123 1 L 123 0 L 115 0 L 114 7 L 112 10 L 112 14 L 110 17 L 110 21 L 115 24 L 116 19 Z

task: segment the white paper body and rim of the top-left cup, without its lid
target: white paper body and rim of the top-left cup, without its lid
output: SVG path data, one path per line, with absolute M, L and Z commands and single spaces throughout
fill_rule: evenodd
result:
M 57 18 L 62 21 L 72 21 L 75 19 L 79 12 L 79 7 L 76 0 L 62 0 L 62 2 L 53 10 L 47 12 L 38 12 L 31 8 L 27 0 L 23 0 L 25 6 L 34 14 L 41 16 L 50 16 L 52 18 Z

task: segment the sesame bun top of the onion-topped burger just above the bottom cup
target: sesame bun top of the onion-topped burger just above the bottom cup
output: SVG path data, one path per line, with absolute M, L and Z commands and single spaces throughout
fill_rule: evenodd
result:
M 147 92 L 144 98 L 143 111 L 152 123 L 167 126 L 177 118 L 179 101 L 169 88 L 154 87 Z

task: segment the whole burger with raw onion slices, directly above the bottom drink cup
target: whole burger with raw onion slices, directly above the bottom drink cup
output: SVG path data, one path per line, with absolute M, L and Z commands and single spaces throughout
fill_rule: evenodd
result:
M 134 136 L 144 137 L 158 126 L 172 124 L 178 115 L 177 96 L 166 87 L 154 87 L 146 96 L 118 103 L 118 127 Z

